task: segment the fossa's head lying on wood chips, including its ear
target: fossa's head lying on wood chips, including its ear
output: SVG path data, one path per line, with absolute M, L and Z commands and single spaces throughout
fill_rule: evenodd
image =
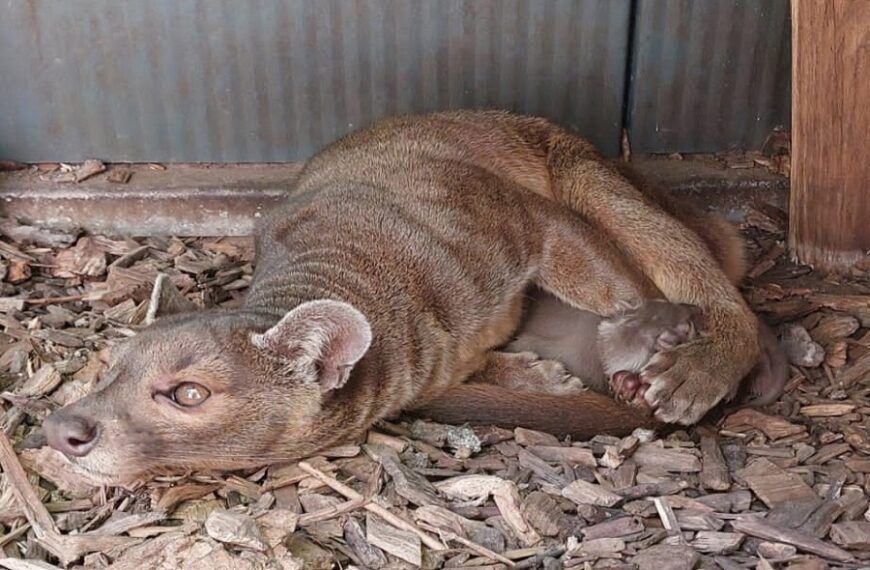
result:
M 366 317 L 337 301 L 278 323 L 241 311 L 167 317 L 116 347 L 97 389 L 52 414 L 46 437 L 106 483 L 292 459 L 316 451 L 314 420 L 371 340 Z

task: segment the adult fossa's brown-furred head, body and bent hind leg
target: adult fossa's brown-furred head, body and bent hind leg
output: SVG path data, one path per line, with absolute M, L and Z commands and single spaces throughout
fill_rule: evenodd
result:
M 242 308 L 130 340 L 101 390 L 47 420 L 49 440 L 63 447 L 87 418 L 98 436 L 77 462 L 107 480 L 311 454 L 466 380 L 517 328 L 532 285 L 599 315 L 659 294 L 700 307 L 709 334 L 644 372 L 660 420 L 697 421 L 758 353 L 754 315 L 698 235 L 543 119 L 450 112 L 349 135 L 309 162 L 257 247 Z M 364 321 L 329 303 L 284 320 L 323 300 Z M 363 329 L 362 359 L 338 358 Z M 263 334 L 274 342 L 252 341 Z M 327 387 L 331 363 L 345 385 Z M 181 409 L 171 390 L 188 381 L 211 396 Z M 591 394 L 565 405 L 586 435 L 648 421 Z

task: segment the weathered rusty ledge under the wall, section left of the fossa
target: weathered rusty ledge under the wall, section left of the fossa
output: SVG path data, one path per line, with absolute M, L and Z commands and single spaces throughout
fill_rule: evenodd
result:
M 280 203 L 299 164 L 114 166 L 127 184 L 101 174 L 81 183 L 55 174 L 0 174 L 0 212 L 27 223 L 107 235 L 250 235 L 254 220 Z

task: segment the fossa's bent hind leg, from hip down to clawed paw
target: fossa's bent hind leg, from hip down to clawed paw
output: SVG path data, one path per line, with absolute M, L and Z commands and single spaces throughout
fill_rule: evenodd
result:
M 708 336 L 657 354 L 644 371 L 648 404 L 665 422 L 691 424 L 758 360 L 755 315 L 703 241 L 625 178 L 553 128 L 547 163 L 556 201 L 619 245 L 665 298 L 700 307 Z

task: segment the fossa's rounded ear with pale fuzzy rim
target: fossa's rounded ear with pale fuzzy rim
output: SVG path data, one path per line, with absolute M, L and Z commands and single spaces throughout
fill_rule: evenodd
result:
M 299 305 L 251 341 L 278 358 L 311 366 L 321 391 L 328 392 L 345 385 L 372 343 L 372 329 L 351 305 L 319 300 Z

